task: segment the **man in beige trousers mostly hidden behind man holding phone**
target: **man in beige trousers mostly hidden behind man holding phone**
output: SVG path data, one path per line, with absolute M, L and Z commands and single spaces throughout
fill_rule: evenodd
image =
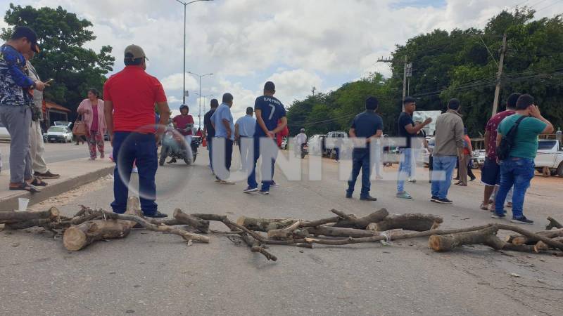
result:
M 39 81 L 39 74 L 37 74 L 35 67 L 33 67 L 30 62 L 34 55 L 35 52 L 30 51 L 23 54 L 23 57 L 25 57 L 27 76 L 33 81 Z M 41 121 L 43 121 L 43 91 L 33 91 L 33 106 L 30 128 L 30 154 L 32 159 L 32 169 L 34 171 L 33 174 L 34 176 L 39 176 L 44 179 L 59 178 L 60 176 L 58 174 L 51 173 L 51 171 L 49 171 L 47 163 L 43 158 L 43 153 L 45 152 L 45 143 L 41 132 Z

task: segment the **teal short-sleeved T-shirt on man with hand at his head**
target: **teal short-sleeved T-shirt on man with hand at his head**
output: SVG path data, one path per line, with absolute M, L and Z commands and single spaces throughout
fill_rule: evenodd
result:
M 498 133 L 505 136 L 519 117 L 521 117 L 521 114 L 510 115 L 503 119 L 498 126 Z M 543 132 L 545 126 L 548 126 L 548 124 L 545 124 L 535 117 L 522 119 L 518 125 L 514 145 L 510 150 L 510 157 L 536 158 L 536 153 L 538 152 L 538 135 Z

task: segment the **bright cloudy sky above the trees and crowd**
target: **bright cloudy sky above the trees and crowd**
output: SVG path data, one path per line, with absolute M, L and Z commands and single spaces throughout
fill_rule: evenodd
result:
M 0 11 L 10 1 L 0 0 Z M 122 70 L 129 44 L 144 48 L 147 72 L 160 79 L 173 112 L 182 104 L 184 6 L 177 0 L 35 0 L 34 7 L 62 6 L 91 21 L 96 40 L 113 47 L 114 71 Z M 276 84 L 286 107 L 293 100 L 336 90 L 370 72 L 390 74 L 396 44 L 433 29 L 483 27 L 502 9 L 531 6 L 537 17 L 563 13 L 562 0 L 213 0 L 186 6 L 186 70 L 202 77 L 201 94 L 232 93 L 234 118 L 253 106 L 265 81 Z M 4 20 L 0 27 L 6 27 Z M 416 62 L 416 61 L 415 61 Z M 198 124 L 209 97 L 199 100 L 198 78 L 186 74 L 190 114 Z

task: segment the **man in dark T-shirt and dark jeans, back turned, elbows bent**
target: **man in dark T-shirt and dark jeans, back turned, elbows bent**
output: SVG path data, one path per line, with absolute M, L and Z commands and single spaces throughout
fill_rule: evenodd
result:
M 348 180 L 348 190 L 346 190 L 346 197 L 348 199 L 352 197 L 356 179 L 358 178 L 361 169 L 362 191 L 360 193 L 360 199 L 362 201 L 377 201 L 375 197 L 369 195 L 369 189 L 371 188 L 369 176 L 372 173 L 372 164 L 370 163 L 369 153 L 371 152 L 370 147 L 372 145 L 372 141 L 374 142 L 377 138 L 381 137 L 381 133 L 383 132 L 383 119 L 375 113 L 378 105 L 379 101 L 377 98 L 370 96 L 365 100 L 365 112 L 356 115 L 352 121 L 350 138 L 365 138 L 366 147 L 355 147 L 353 150 L 352 174 L 350 175 L 350 180 Z M 358 141 L 356 139 L 353 140 L 356 142 Z M 359 145 L 358 143 L 356 144 Z

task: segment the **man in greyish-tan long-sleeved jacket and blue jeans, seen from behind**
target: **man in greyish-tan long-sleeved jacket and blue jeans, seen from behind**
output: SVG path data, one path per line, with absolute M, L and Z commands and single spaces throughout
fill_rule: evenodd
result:
M 452 184 L 455 162 L 463 148 L 463 121 L 460 100 L 452 99 L 448 111 L 436 119 L 436 145 L 434 146 L 432 170 L 432 202 L 451 204 L 448 190 Z

